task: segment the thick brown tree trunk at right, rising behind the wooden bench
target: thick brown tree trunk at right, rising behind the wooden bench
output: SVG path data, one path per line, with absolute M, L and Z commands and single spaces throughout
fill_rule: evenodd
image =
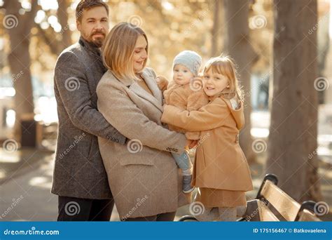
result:
M 296 201 L 320 201 L 317 160 L 317 0 L 275 0 L 272 109 L 266 173 Z M 278 34 L 278 37 L 276 37 Z

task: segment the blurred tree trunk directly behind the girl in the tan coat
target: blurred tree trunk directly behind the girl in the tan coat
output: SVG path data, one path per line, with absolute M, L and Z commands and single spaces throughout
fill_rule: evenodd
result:
M 225 49 L 226 53 L 232 57 L 237 64 L 237 72 L 240 76 L 240 84 L 244 87 L 244 92 L 250 91 L 250 72 L 253 61 L 256 60 L 254 50 L 249 44 L 249 1 L 247 0 L 225 0 L 225 22 L 226 33 Z M 240 133 L 240 145 L 249 163 L 255 161 L 255 154 L 251 138 L 251 102 L 250 96 L 244 95 L 244 119 L 245 125 Z

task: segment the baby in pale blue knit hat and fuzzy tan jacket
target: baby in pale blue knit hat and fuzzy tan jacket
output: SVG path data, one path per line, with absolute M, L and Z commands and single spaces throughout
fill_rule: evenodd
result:
M 164 91 L 165 103 L 173 105 L 184 110 L 198 110 L 200 107 L 207 105 L 209 101 L 207 95 L 202 89 L 202 79 L 198 76 L 202 58 L 194 51 L 182 51 L 173 61 L 173 81 L 168 84 L 167 79 L 158 76 L 158 86 Z M 200 133 L 186 132 L 184 129 L 175 126 L 169 126 L 173 131 L 186 133 L 189 140 L 199 140 Z M 172 153 L 177 165 L 182 170 L 184 193 L 192 192 L 191 179 L 193 173 L 193 165 L 187 152 L 184 154 Z

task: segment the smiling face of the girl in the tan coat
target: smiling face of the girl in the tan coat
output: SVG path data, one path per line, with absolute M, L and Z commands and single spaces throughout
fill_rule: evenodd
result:
M 209 69 L 204 73 L 204 91 L 209 97 L 221 93 L 228 85 L 229 81 L 227 76 L 217 72 L 212 72 L 212 69 Z

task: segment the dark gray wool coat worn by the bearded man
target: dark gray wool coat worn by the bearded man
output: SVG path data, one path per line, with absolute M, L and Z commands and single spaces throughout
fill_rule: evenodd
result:
M 82 38 L 57 59 L 54 91 L 59 128 L 53 194 L 112 198 L 97 136 L 119 145 L 125 137 L 97 110 L 96 87 L 104 72 L 99 48 Z

